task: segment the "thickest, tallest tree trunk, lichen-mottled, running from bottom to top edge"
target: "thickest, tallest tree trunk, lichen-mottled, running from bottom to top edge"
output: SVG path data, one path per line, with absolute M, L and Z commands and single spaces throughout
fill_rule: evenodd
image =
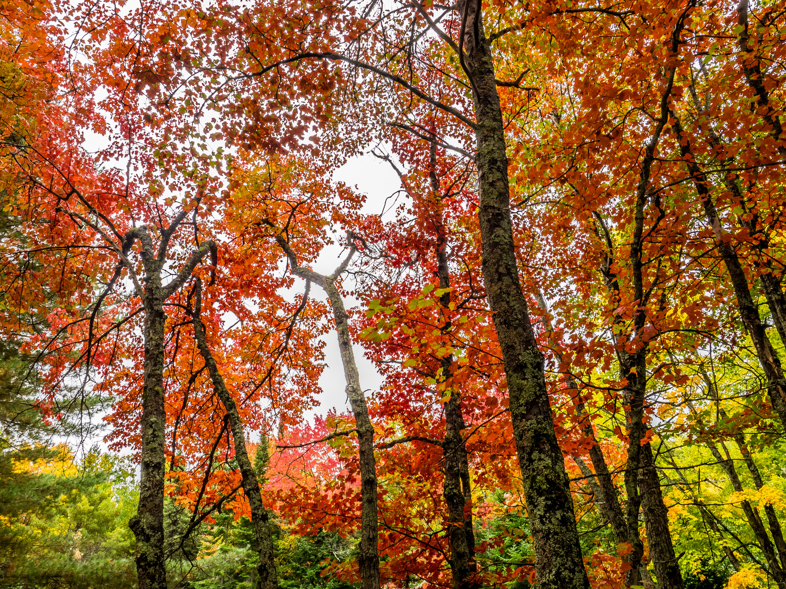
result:
M 478 0 L 462 0 L 461 46 L 476 114 L 483 282 L 505 364 L 509 410 L 541 589 L 589 587 L 564 458 L 554 433 L 543 355 L 521 290 L 510 216 L 508 156 L 494 63 Z M 460 47 L 461 50 L 461 47 Z M 463 52 L 462 52 L 463 53 Z

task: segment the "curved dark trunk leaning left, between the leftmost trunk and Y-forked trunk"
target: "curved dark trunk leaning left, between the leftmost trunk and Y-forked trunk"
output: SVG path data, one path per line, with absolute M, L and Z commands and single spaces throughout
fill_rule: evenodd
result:
M 237 459 L 237 464 L 240 466 L 241 476 L 243 477 L 243 492 L 248 499 L 248 506 L 251 509 L 254 537 L 257 545 L 257 553 L 259 554 L 259 563 L 256 567 L 256 587 L 257 589 L 275 589 L 275 587 L 278 587 L 278 580 L 273 537 L 270 533 L 270 518 L 262 503 L 262 494 L 259 489 L 259 481 L 256 477 L 254 465 L 248 457 L 241 415 L 237 411 L 237 404 L 235 404 L 232 395 L 230 395 L 229 390 L 226 389 L 226 384 L 219 372 L 219 367 L 216 366 L 213 355 L 208 347 L 208 340 L 204 333 L 204 325 L 200 319 L 201 310 L 202 281 L 197 278 L 192 321 L 194 338 L 196 339 L 196 346 L 199 348 L 200 354 L 204 358 L 204 363 L 208 367 L 208 372 L 213 382 L 213 389 L 219 396 L 219 399 L 221 399 L 226 409 L 226 416 L 230 422 L 230 431 L 232 432 L 232 439 L 235 447 L 235 459 Z

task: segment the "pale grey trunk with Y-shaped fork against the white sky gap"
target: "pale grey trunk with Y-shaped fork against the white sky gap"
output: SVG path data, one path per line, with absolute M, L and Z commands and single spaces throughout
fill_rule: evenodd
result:
M 273 227 L 268 222 L 267 225 Z M 351 240 L 351 235 L 349 236 Z M 336 271 L 329 276 L 319 274 L 299 266 L 297 256 L 289 244 L 277 233 L 275 236 L 278 245 L 289 258 L 292 274 L 300 276 L 303 280 L 310 280 L 321 286 L 328 294 L 333 318 L 336 321 L 336 331 L 339 338 L 341 363 L 343 364 L 344 377 L 347 379 L 347 397 L 354 414 L 355 428 L 358 432 L 358 459 L 361 481 L 361 525 L 360 525 L 360 554 L 358 555 L 358 568 L 362 589 L 380 589 L 380 556 L 378 549 L 378 508 L 376 498 L 376 462 L 374 459 L 374 426 L 369 418 L 369 407 L 365 403 L 365 395 L 360 386 L 358 364 L 354 361 L 352 351 L 352 338 L 349 332 L 349 317 L 344 308 L 343 299 L 336 287 L 336 280 L 347 269 L 355 248 L 350 244 L 350 251 Z

